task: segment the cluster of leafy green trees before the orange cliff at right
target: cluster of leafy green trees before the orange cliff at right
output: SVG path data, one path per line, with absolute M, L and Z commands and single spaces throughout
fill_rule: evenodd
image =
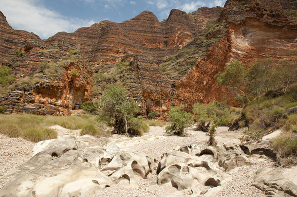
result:
M 226 87 L 231 93 L 236 93 L 235 99 L 242 105 L 250 103 L 261 93 L 280 89 L 286 93 L 288 88 L 297 82 L 297 59 L 273 60 L 272 58 L 258 59 L 251 64 L 250 70 L 240 62 L 231 62 L 225 72 L 216 75 L 218 84 Z

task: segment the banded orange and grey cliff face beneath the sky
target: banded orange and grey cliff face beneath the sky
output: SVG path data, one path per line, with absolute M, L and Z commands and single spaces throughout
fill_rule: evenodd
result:
M 93 98 L 95 83 L 102 89 L 126 83 L 122 75 L 94 82 L 93 72 L 105 76 L 127 59 L 126 88 L 143 115 L 157 111 L 166 119 L 172 105 L 187 104 L 190 110 L 198 101 L 229 100 L 214 76 L 231 61 L 296 57 L 297 19 L 289 14 L 296 10 L 294 0 L 227 0 L 224 8 L 190 14 L 174 9 L 163 22 L 145 11 L 122 23 L 101 21 L 47 40 L 13 30 L 0 13 L 0 63 L 17 79 L 0 106 L 6 113 L 75 114 Z M 50 68 L 42 71 L 41 62 Z M 28 77 L 34 83 L 24 85 Z

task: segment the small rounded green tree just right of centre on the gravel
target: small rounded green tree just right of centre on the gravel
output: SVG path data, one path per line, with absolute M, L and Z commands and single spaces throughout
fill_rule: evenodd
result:
M 169 121 L 171 125 L 166 126 L 168 134 L 182 136 L 186 128 L 193 124 L 192 114 L 182 109 L 183 106 L 171 107 L 169 111 Z

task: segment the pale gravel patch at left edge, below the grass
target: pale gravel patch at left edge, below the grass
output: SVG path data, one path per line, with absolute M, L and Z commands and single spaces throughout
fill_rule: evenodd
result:
M 8 138 L 0 134 L 0 188 L 8 181 L 4 174 L 32 157 L 34 145 L 22 138 Z

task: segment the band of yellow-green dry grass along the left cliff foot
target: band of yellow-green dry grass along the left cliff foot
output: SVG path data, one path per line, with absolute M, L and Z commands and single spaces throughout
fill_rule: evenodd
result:
M 22 137 L 32 142 L 57 138 L 57 133 L 49 126 L 60 125 L 68 129 L 83 129 L 81 135 L 108 135 L 105 125 L 97 117 L 83 114 L 78 116 L 37 116 L 33 114 L 4 115 L 0 114 L 0 133 L 8 137 Z M 102 131 L 100 129 L 102 128 Z M 95 132 L 94 132 L 95 130 Z

